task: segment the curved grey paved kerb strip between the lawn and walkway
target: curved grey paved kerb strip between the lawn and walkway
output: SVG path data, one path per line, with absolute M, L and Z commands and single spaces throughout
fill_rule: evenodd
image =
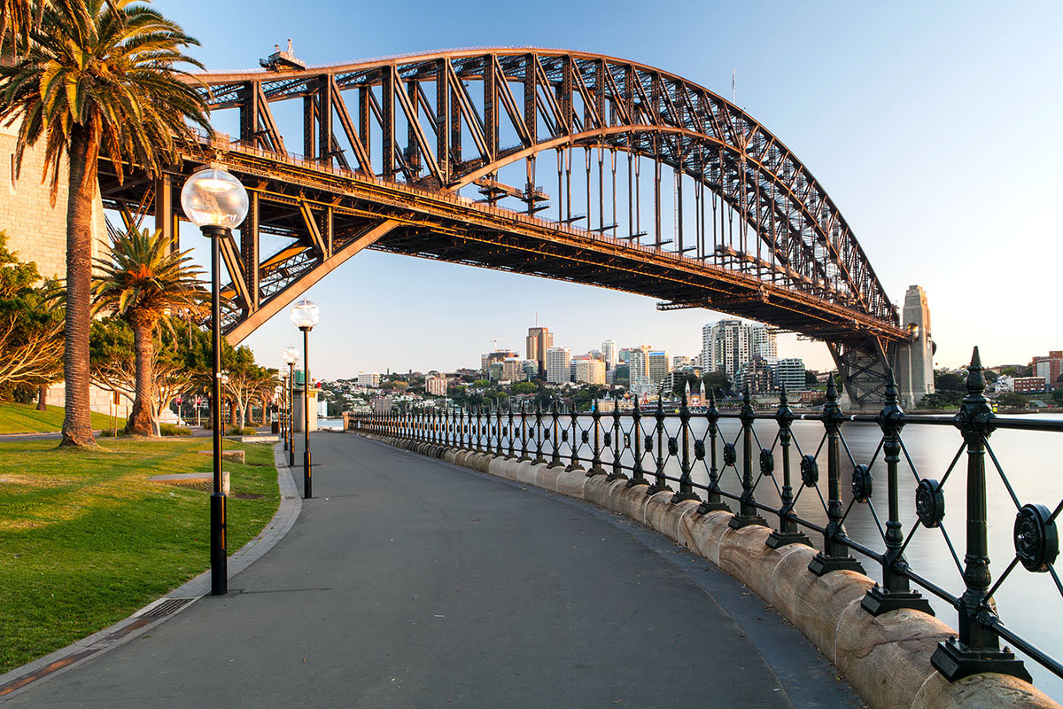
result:
M 229 557 L 227 576 L 230 579 L 273 548 L 288 534 L 303 510 L 303 501 L 296 488 L 296 480 L 292 477 L 291 469 L 288 468 L 281 443 L 273 446 L 273 465 L 276 467 L 281 504 L 263 530 Z M 151 602 L 129 618 L 0 675 L 0 700 L 18 694 L 34 682 L 55 677 L 92 657 L 148 632 L 209 592 L 210 571 L 207 570 Z

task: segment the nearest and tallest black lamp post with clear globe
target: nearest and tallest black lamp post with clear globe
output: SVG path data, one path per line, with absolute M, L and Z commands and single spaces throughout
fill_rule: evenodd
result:
M 221 239 L 248 214 L 248 192 L 240 181 L 215 168 L 200 170 L 181 190 L 185 216 L 210 239 L 212 405 L 214 423 L 214 492 L 210 494 L 210 594 L 229 590 L 225 552 L 225 493 L 221 487 Z

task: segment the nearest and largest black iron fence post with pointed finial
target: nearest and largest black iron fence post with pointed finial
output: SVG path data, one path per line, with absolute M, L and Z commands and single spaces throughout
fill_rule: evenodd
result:
M 1032 681 L 1023 661 L 1015 659 L 1008 647 L 1000 649 L 1000 639 L 981 619 L 985 612 L 996 614 L 996 604 L 986 595 L 993 576 L 985 520 L 985 439 L 993 433 L 995 417 L 982 394 L 984 389 L 982 361 L 975 348 L 967 370 L 967 395 L 954 419 L 967 444 L 967 545 L 963 557 L 966 590 L 957 609 L 960 636 L 938 643 L 930 664 L 949 681 L 980 672 L 998 672 Z

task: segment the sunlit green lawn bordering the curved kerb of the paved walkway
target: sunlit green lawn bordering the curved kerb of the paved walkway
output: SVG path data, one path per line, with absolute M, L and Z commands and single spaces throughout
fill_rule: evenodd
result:
M 87 453 L 54 441 L 0 442 L 0 674 L 128 617 L 209 565 L 209 486 L 148 480 L 210 470 L 210 457 L 196 453 L 209 439 L 102 442 Z M 247 465 L 225 463 L 232 554 L 270 520 L 280 493 L 270 444 L 225 448 L 247 451 Z

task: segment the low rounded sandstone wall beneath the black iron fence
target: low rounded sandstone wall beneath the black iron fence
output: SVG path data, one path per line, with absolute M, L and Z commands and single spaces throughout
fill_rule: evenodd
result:
M 874 709 L 1063 709 L 1028 682 L 983 673 L 949 682 L 930 665 L 938 643 L 956 630 L 917 610 L 877 618 L 860 603 L 874 581 L 853 571 L 815 576 L 815 550 L 790 544 L 773 550 L 771 529 L 732 529 L 730 512 L 697 513 L 696 502 L 672 503 L 672 492 L 648 494 L 645 485 L 606 475 L 588 477 L 547 463 L 475 453 L 434 443 L 359 435 L 420 455 L 509 480 L 586 500 L 644 524 L 716 564 L 793 623 Z

